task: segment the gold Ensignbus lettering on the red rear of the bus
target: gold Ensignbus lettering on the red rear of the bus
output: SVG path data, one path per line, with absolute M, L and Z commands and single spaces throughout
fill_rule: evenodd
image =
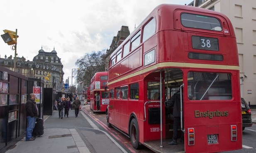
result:
M 228 111 L 209 111 L 207 110 L 206 112 L 200 112 L 199 110 L 195 110 L 195 117 L 209 117 L 212 119 L 213 117 L 225 117 L 228 116 L 229 112 Z

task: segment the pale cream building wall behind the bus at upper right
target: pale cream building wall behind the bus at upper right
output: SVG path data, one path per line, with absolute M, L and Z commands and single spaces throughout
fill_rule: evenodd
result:
M 207 0 L 197 7 L 209 9 L 213 5 L 232 22 L 239 53 L 241 97 L 256 106 L 256 0 Z

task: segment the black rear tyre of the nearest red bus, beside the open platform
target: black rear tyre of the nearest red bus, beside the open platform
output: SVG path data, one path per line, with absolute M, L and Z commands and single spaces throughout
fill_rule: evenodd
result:
M 139 127 L 135 119 L 132 119 L 130 124 L 130 139 L 133 148 L 140 149 L 141 145 L 139 144 Z

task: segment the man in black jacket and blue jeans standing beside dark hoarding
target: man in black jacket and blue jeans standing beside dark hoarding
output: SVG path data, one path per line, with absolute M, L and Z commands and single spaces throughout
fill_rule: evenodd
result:
M 36 99 L 36 95 L 34 95 L 34 93 L 30 93 L 29 100 L 27 100 L 27 103 L 26 103 L 26 114 L 27 114 L 26 141 L 35 140 L 35 138 L 33 138 L 32 136 L 32 132 L 36 123 L 36 118 L 38 117 L 38 108 L 37 108 L 35 99 Z

